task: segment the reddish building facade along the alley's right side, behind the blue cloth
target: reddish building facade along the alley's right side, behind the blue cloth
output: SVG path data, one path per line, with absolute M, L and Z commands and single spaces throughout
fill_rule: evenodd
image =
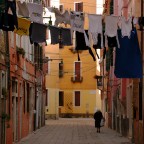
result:
M 109 3 L 109 10 L 106 8 L 107 14 L 124 16 L 125 18 L 130 16 L 139 18 L 143 13 L 143 3 L 141 1 L 115 0 L 106 2 Z M 136 28 L 142 54 L 143 32 L 139 29 L 138 23 L 136 24 Z M 111 58 L 109 58 L 109 55 L 106 55 L 104 66 L 101 64 L 101 72 L 103 69 L 105 70 L 104 75 L 106 76 L 104 77 L 104 81 L 106 81 L 107 85 L 107 103 L 105 103 L 105 107 L 108 107 L 107 111 L 105 111 L 107 125 L 123 136 L 129 137 L 133 143 L 142 144 L 144 129 L 142 125 L 142 79 L 116 78 L 114 75 L 115 48 L 113 48 L 111 55 Z M 107 69 L 108 67 L 109 69 Z M 102 93 L 102 98 L 104 98 L 104 93 Z

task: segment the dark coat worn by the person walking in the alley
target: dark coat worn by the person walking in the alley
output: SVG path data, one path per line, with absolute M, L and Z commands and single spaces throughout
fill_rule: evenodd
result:
M 94 114 L 94 119 L 95 119 L 95 127 L 100 127 L 100 122 L 101 119 L 103 118 L 102 112 L 101 111 L 97 111 Z

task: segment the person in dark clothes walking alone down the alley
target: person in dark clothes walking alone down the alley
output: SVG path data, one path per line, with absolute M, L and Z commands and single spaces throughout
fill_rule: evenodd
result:
M 100 127 L 101 127 L 100 123 L 101 123 L 101 120 L 103 119 L 103 115 L 100 110 L 97 110 L 94 113 L 94 119 L 95 119 L 95 128 L 97 128 L 97 133 L 100 133 Z

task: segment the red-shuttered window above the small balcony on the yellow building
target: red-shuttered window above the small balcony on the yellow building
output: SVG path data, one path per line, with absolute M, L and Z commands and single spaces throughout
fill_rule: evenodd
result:
M 81 78 L 81 62 L 77 61 L 75 62 L 75 72 L 74 72 L 75 76 L 75 80 L 76 81 L 80 81 Z

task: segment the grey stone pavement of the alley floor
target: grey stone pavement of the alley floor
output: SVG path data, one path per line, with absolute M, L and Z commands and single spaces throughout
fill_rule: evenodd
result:
M 106 127 L 97 133 L 91 118 L 60 118 L 47 120 L 46 126 L 18 144 L 130 144 L 130 140 Z

